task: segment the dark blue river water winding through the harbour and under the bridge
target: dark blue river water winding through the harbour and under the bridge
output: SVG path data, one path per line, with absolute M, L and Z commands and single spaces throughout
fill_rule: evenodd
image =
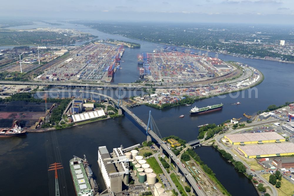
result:
M 30 29 L 46 28 L 48 26 L 53 27 L 49 24 L 36 22 L 35 25 L 13 28 Z M 75 26 L 74 24 L 66 23 L 64 26 L 56 26 L 56 28 L 78 29 L 98 35 L 99 39 L 112 38 L 140 43 L 140 49 L 126 48 L 121 59 L 123 61 L 121 62 L 122 69 L 119 69 L 114 76 L 115 83 L 137 80 L 139 78 L 137 54 L 152 52 L 157 47 L 155 43 L 105 34 L 83 25 Z M 158 44 L 158 46 L 162 47 L 163 45 Z M 209 55 L 213 56 L 214 53 L 209 53 Z M 145 123 L 148 121 L 148 111 L 151 110 L 162 137 L 177 135 L 182 139 L 191 141 L 196 139 L 198 135 L 198 125 L 206 123 L 219 124 L 227 119 L 243 117 L 244 112 L 254 114 L 258 110 L 266 109 L 270 104 L 280 105 L 287 101 L 293 101 L 294 91 L 291 90 L 293 64 L 239 58 L 224 54 L 219 54 L 219 58 L 224 61 L 248 64 L 260 70 L 265 79 L 254 88 L 255 90 L 251 92 L 251 96 L 249 91 L 245 90 L 223 97 L 200 100 L 189 107 L 178 106 L 158 110 L 143 105 L 134 107 L 131 110 Z M 232 105 L 232 103 L 238 101 L 241 102 L 240 105 Z M 221 111 L 202 116 L 189 116 L 189 110 L 195 105 L 203 107 L 220 102 L 224 103 Z M 179 118 L 181 114 L 184 114 L 185 117 Z M 62 157 L 61 161 L 64 166 L 69 195 L 75 194 L 69 170 L 69 160 L 73 155 L 82 157 L 85 154 L 87 156 L 92 165 L 94 175 L 97 177 L 97 183 L 101 190 L 104 190 L 105 185 L 96 162 L 98 147 L 107 146 L 108 150 L 111 150 L 121 144 L 128 147 L 146 140 L 144 131 L 139 129 L 136 124 L 133 124 L 133 121 L 127 115 L 56 131 L 55 134 L 58 138 L 58 149 Z M 0 138 L 0 172 L 2 179 L 4 179 L 1 182 L 0 195 L 9 195 L 11 192 L 13 192 L 13 195 L 50 195 L 45 136 L 46 134 L 44 133 L 29 133 L 24 137 Z M 196 149 L 196 152 L 213 169 L 220 182 L 232 195 L 257 195 L 248 179 L 244 175 L 238 174 L 233 166 L 228 164 L 216 150 L 211 147 L 200 147 Z

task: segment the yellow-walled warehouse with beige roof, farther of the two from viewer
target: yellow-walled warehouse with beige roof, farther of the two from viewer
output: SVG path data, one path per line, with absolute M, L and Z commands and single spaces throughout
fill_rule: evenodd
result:
M 230 134 L 225 135 L 224 138 L 228 139 L 233 145 L 280 143 L 286 140 L 276 132 Z

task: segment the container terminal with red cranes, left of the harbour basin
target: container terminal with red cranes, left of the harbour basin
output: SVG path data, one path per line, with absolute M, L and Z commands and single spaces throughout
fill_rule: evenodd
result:
M 123 46 L 91 43 L 72 51 L 66 60 L 52 63 L 35 80 L 111 82 L 123 52 Z

